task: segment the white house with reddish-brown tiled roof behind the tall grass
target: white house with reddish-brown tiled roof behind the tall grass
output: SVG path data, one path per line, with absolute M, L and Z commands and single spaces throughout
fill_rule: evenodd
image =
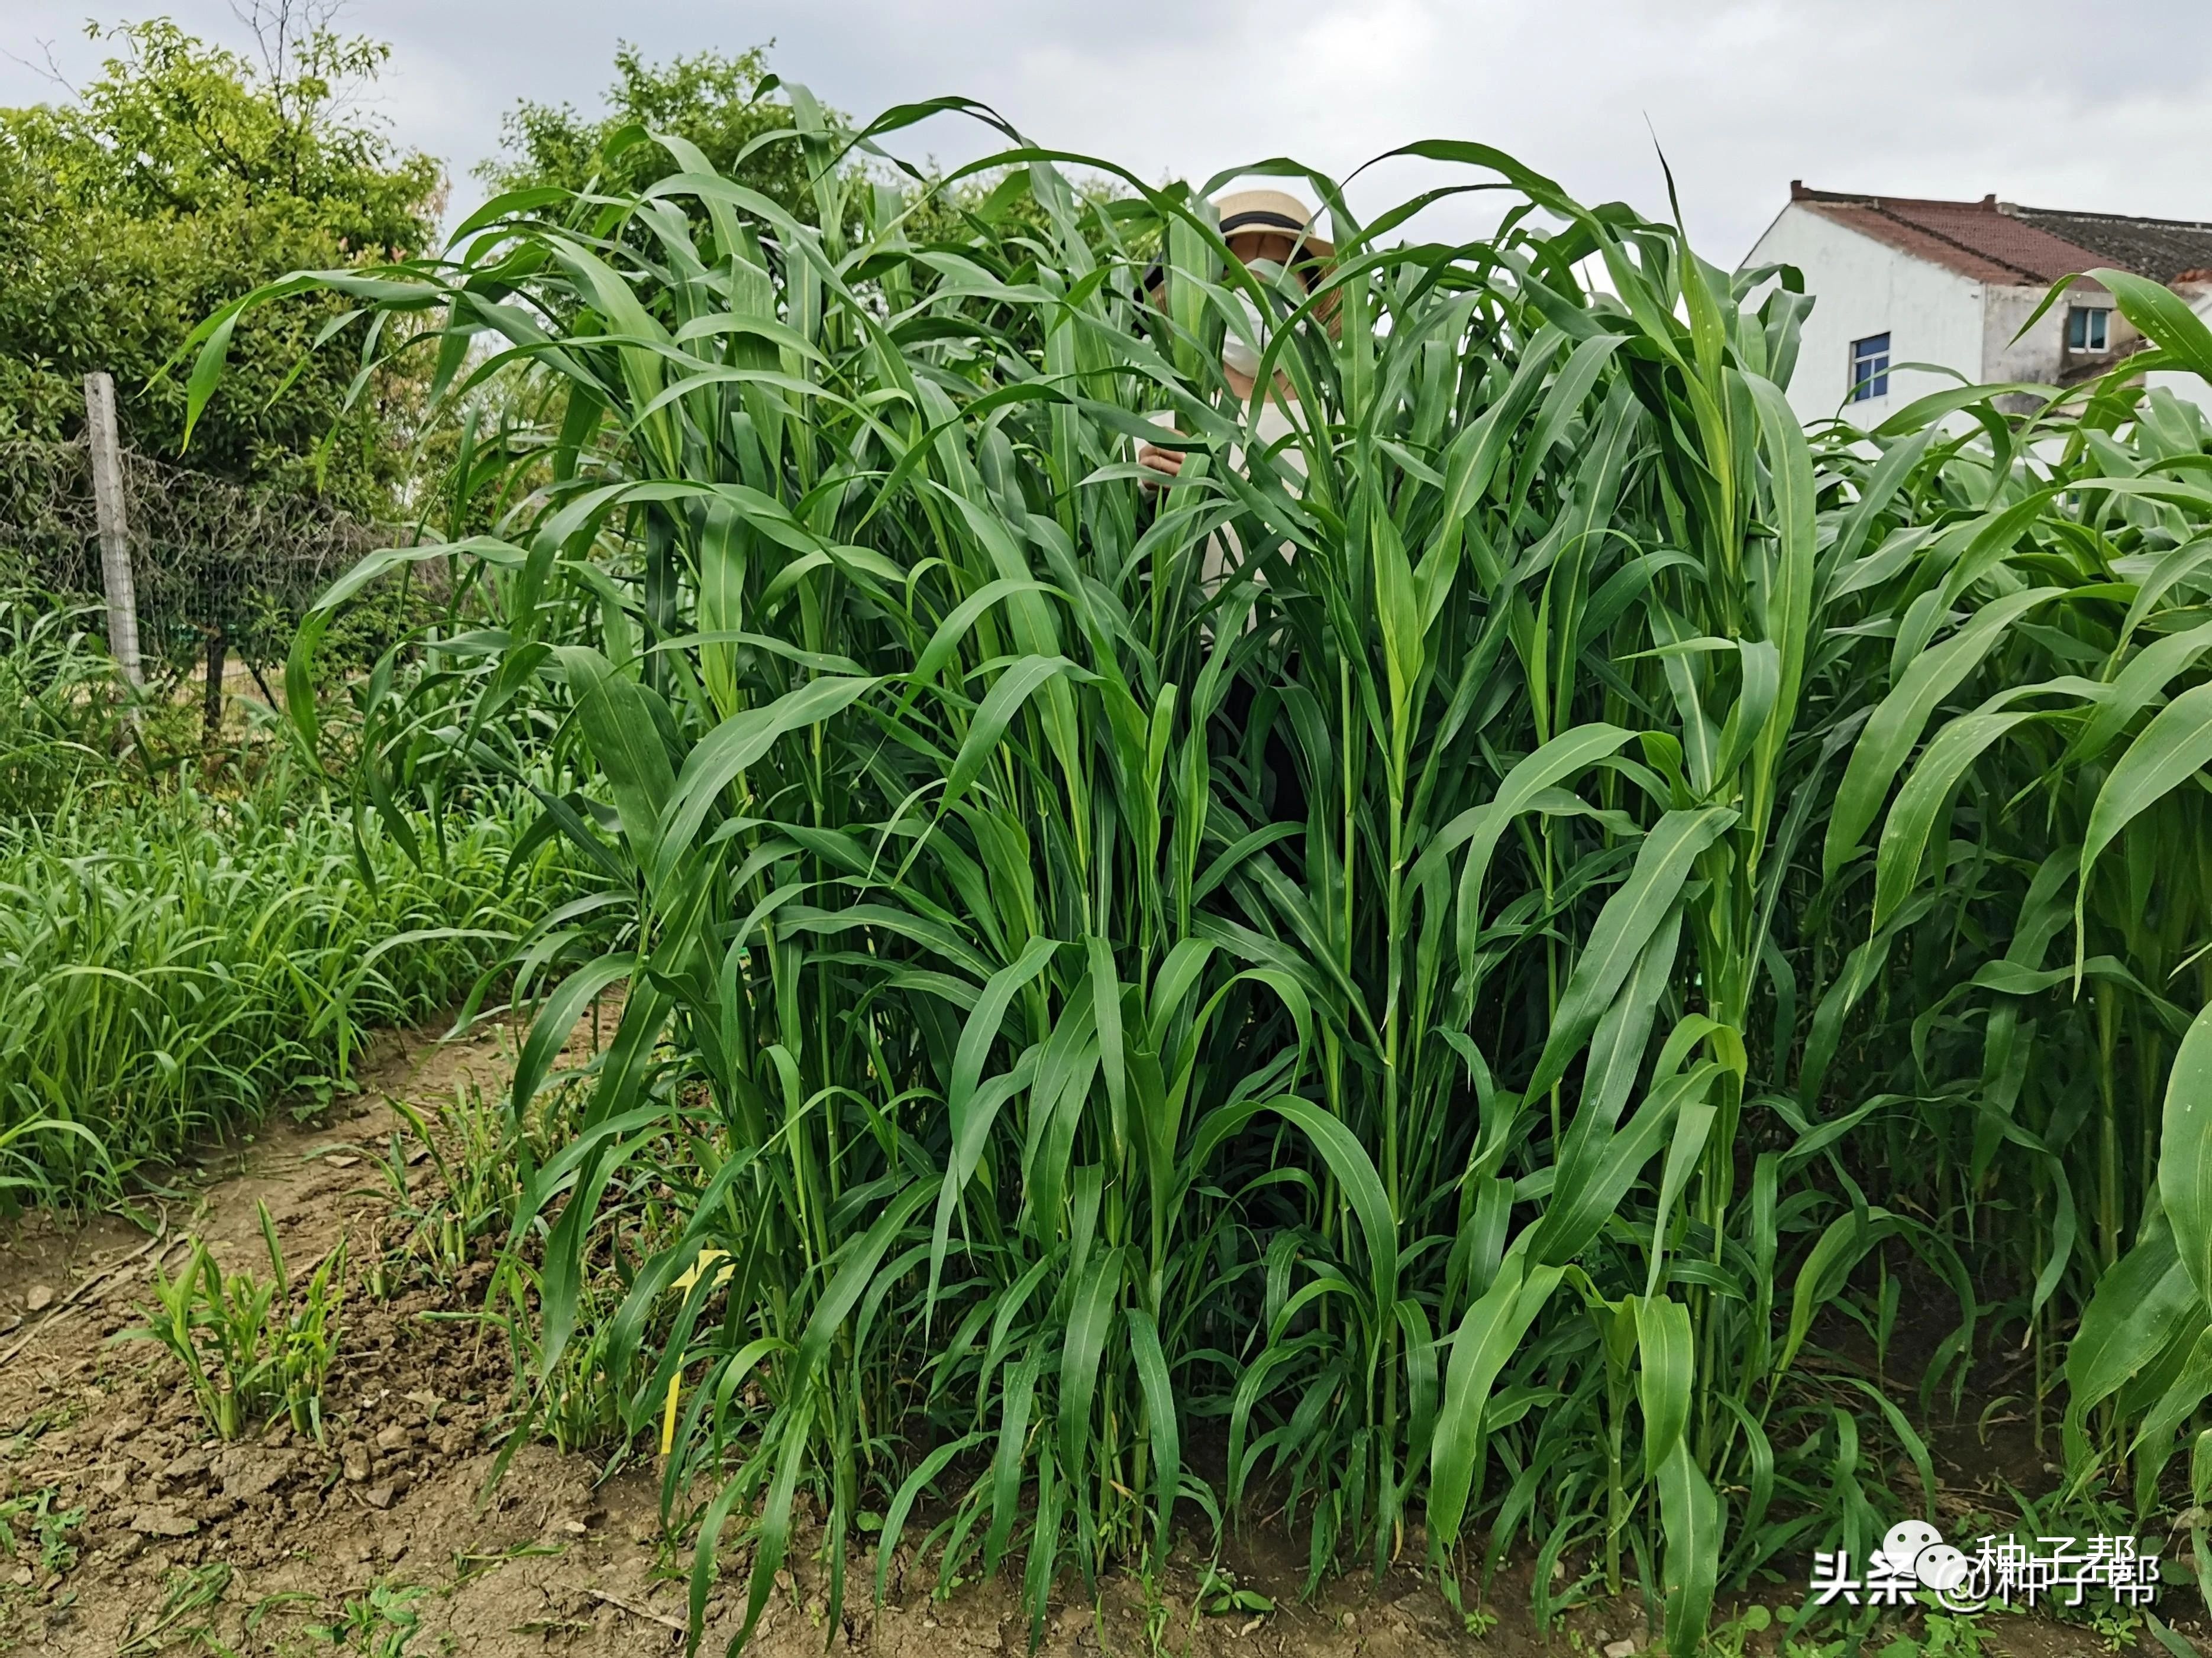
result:
M 1958 376 L 2073 385 L 2108 369 L 2141 340 L 2095 283 L 2068 287 L 2020 334 L 2051 283 L 2070 272 L 2130 270 L 2212 309 L 2212 223 L 2055 212 L 1995 197 L 1858 197 L 1794 181 L 1790 206 L 1745 265 L 1805 274 L 1816 303 L 1790 402 L 1805 420 L 1843 413 L 1856 427 Z M 1907 367 L 1918 363 L 1936 367 Z M 2152 380 L 2212 407 L 2212 389 L 2194 376 Z

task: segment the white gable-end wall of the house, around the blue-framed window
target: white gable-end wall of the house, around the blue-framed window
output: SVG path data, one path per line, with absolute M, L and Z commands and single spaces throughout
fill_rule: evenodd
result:
M 1889 334 L 1891 363 L 1942 363 L 1969 380 L 1984 378 L 1982 285 L 1966 276 L 1902 254 L 1798 201 L 1783 208 L 1743 263 L 1796 265 L 1805 272 L 1805 292 L 1816 296 L 1790 380 L 1790 402 L 1807 422 L 1843 409 L 1851 424 L 1874 427 L 1913 398 L 1955 385 L 1936 374 L 1891 371 L 1887 398 L 1845 409 L 1851 340 L 1869 334 Z

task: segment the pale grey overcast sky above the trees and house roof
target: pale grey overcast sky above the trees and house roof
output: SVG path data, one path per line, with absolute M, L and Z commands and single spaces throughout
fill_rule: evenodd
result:
M 97 71 L 86 13 L 164 9 L 243 40 L 228 0 L 0 0 L 0 104 L 55 95 L 51 44 Z M 2203 0 L 354 0 L 394 46 L 376 106 L 447 161 L 456 206 L 518 97 L 597 108 L 617 40 L 648 55 L 774 40 L 772 64 L 872 115 L 962 93 L 1029 137 L 1150 179 L 1270 155 L 1343 175 L 1422 137 L 1480 139 L 1584 201 L 1666 212 L 1734 263 L 1787 199 L 1980 197 L 2212 219 L 2212 7 Z M 940 117 L 905 155 L 989 148 Z M 1431 177 L 1398 164 L 1354 201 Z

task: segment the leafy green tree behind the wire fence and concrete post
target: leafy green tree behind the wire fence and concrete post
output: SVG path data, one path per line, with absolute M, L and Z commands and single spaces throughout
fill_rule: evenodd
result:
M 95 82 L 0 111 L 0 438 L 75 438 L 84 374 L 106 369 L 126 444 L 177 458 L 186 387 L 166 367 L 204 316 L 288 270 L 403 259 L 434 237 L 440 164 L 394 144 L 358 106 L 389 49 L 338 35 L 312 0 L 243 15 L 252 55 L 166 18 L 91 27 L 113 49 Z M 241 396 L 199 424 L 186 464 L 250 491 L 389 515 L 420 376 L 378 376 L 349 400 L 349 354 L 310 349 L 343 316 L 338 301 L 321 301 L 241 340 Z M 365 327 L 354 325 L 356 343 Z M 11 489 L 24 475 L 0 466 L 0 495 Z M 33 520 L 35 508 L 11 511 L 22 506 L 0 502 L 0 517 Z M 173 661 L 204 648 L 219 681 L 230 643 L 259 639 L 248 650 L 265 657 L 285 632 L 272 615 L 292 595 L 226 579 L 237 573 L 210 548 L 164 557 L 164 575 L 199 595 L 192 615 L 157 619 L 148 639 Z

